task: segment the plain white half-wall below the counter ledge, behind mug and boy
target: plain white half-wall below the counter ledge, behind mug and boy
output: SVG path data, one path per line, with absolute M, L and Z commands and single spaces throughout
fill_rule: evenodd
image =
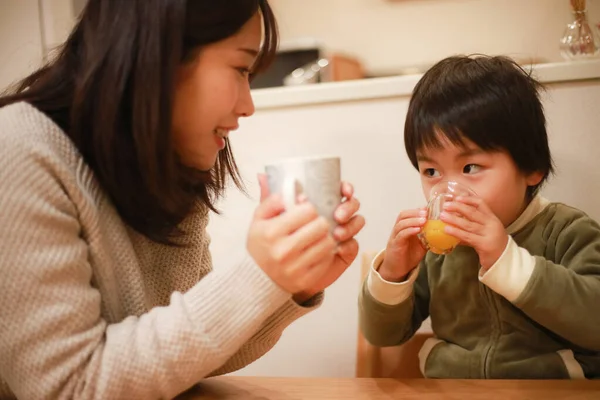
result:
M 544 191 L 600 220 L 600 80 L 553 84 L 545 97 L 558 175 Z M 251 198 L 230 190 L 209 231 L 215 268 L 237 259 L 258 196 L 256 173 L 272 159 L 312 154 L 342 157 L 367 225 L 361 252 L 385 245 L 397 213 L 423 205 L 420 182 L 403 147 L 408 97 L 259 110 L 232 135 Z M 274 350 L 240 375 L 353 376 L 359 261 L 327 290 L 322 308 L 296 321 Z

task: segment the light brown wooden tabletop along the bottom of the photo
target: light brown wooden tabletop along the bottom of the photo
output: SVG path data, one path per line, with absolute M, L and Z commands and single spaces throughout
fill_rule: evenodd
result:
M 517 381 L 372 378 L 209 378 L 183 400 L 600 400 L 600 380 Z

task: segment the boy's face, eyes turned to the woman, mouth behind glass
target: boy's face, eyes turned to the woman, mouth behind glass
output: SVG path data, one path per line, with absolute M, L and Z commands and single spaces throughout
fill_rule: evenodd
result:
M 417 152 L 425 197 L 436 183 L 456 181 L 475 191 L 505 227 L 514 222 L 527 206 L 527 187 L 543 174 L 524 174 L 506 151 L 483 151 L 466 138 L 464 147 L 440 139 L 442 147 Z

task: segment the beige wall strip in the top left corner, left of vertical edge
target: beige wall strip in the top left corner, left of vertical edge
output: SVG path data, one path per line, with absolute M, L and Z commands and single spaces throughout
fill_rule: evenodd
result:
M 0 0 L 0 92 L 42 62 L 37 0 Z

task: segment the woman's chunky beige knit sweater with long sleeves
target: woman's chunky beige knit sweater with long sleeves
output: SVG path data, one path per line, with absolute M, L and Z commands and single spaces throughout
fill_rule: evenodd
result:
M 191 246 L 129 229 L 69 138 L 0 109 L 0 398 L 172 398 L 256 360 L 300 307 L 248 257 L 212 271 Z

